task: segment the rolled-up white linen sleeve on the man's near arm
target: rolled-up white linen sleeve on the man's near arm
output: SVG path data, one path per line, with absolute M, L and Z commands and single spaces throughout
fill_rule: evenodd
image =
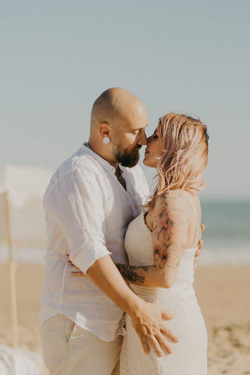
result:
M 70 260 L 83 273 L 111 254 L 105 246 L 103 197 L 94 174 L 78 168 L 63 174 L 44 196 L 43 205 L 66 238 Z

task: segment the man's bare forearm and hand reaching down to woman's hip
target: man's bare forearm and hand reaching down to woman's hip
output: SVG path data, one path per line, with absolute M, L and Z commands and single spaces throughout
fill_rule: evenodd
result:
M 174 342 L 177 336 L 163 323 L 162 318 L 173 316 L 158 305 L 148 303 L 138 297 L 121 277 L 111 257 L 97 260 L 88 270 L 87 275 L 112 301 L 130 315 L 134 329 L 141 339 L 145 353 L 149 353 L 147 338 L 150 339 L 158 356 L 163 356 L 159 343 L 172 353 L 172 347 L 163 334 Z

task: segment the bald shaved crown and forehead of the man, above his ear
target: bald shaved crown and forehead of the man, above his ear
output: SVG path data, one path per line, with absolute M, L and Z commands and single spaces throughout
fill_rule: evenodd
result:
M 120 87 L 105 90 L 94 102 L 91 111 L 91 130 L 101 123 L 108 123 L 114 130 L 133 117 L 145 115 L 142 102 Z

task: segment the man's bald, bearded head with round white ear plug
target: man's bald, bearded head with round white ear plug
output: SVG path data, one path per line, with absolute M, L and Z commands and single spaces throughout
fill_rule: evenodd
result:
M 119 163 L 135 166 L 141 145 L 147 144 L 147 124 L 142 102 L 126 90 L 113 87 L 93 104 L 88 145 L 116 169 Z

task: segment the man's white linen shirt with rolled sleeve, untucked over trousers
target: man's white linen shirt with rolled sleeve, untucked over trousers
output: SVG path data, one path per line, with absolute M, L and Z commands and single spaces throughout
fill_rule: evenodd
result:
M 70 260 L 84 273 L 108 254 L 129 264 L 125 233 L 144 210 L 149 190 L 138 165 L 120 168 L 127 191 L 115 168 L 83 144 L 52 176 L 43 199 L 48 244 L 40 326 L 63 314 L 104 341 L 124 335 L 123 311 L 90 278 L 71 276 L 65 259 L 70 251 Z

